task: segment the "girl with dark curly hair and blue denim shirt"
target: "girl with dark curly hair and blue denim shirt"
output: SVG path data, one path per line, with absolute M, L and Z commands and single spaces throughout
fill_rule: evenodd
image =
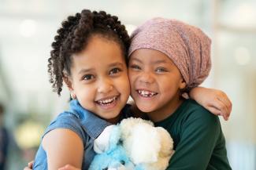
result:
M 72 99 L 70 110 L 59 114 L 46 128 L 33 169 L 58 169 L 67 164 L 87 169 L 95 156 L 94 140 L 104 128 L 134 116 L 126 104 L 130 95 L 130 38 L 117 16 L 84 9 L 69 16 L 54 39 L 48 60 L 50 82 L 60 95 L 64 81 Z M 208 94 L 200 89 L 194 92 Z M 143 95 L 148 96 L 146 93 Z M 228 104 L 217 103 L 214 107 Z M 230 110 L 224 112 L 229 114 Z

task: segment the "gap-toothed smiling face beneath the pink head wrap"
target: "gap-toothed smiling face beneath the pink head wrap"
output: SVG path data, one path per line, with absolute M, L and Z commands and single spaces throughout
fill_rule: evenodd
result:
M 154 49 L 135 50 L 130 56 L 128 75 L 136 106 L 152 121 L 168 117 L 180 106 L 180 89 L 186 83 L 164 53 Z

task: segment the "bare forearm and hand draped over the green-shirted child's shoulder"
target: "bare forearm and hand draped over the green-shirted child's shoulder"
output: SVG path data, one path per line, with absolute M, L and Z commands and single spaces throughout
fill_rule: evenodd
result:
M 225 121 L 228 120 L 232 103 L 221 90 L 196 87 L 191 89 L 189 96 L 211 113 L 223 116 Z

